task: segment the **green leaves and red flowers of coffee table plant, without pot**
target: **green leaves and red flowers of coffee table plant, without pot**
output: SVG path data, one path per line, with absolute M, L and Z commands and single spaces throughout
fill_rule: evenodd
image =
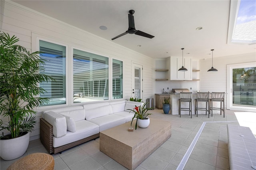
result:
M 137 118 L 136 119 L 136 124 L 135 124 L 135 130 L 137 129 L 137 121 L 138 119 L 146 119 L 146 117 L 148 117 L 148 115 L 152 115 L 152 113 L 147 113 L 148 110 L 152 109 L 152 108 L 145 108 L 147 103 L 144 103 L 142 106 L 136 106 L 135 105 L 135 108 L 133 110 L 131 109 L 128 109 L 130 110 L 130 112 L 134 112 L 134 117 L 132 118 L 132 121 L 133 119 Z M 131 122 L 131 125 L 132 125 L 132 122 Z

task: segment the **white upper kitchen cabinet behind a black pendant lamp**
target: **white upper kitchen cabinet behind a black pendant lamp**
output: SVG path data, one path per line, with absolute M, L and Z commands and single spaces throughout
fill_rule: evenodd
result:
M 182 67 L 182 57 L 168 57 L 166 60 L 166 67 L 168 71 L 169 80 L 192 80 L 192 58 L 184 57 L 183 66 L 188 71 L 178 71 Z

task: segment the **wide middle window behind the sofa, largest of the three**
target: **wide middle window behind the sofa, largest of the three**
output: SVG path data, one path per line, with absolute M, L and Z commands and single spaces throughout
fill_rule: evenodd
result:
M 74 103 L 108 100 L 108 57 L 73 49 Z

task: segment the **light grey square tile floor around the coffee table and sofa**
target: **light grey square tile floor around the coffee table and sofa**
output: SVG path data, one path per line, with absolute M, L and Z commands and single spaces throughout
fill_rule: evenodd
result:
M 152 110 L 152 118 L 172 122 L 172 136 L 153 152 L 136 170 L 176 170 L 198 130 L 204 122 L 205 126 L 195 143 L 184 170 L 228 170 L 227 124 L 238 125 L 234 111 L 226 110 L 226 117 L 214 114 L 190 116 L 168 115 L 162 110 Z M 70 148 L 62 154 L 53 154 L 55 170 L 122 170 L 124 166 L 99 150 L 99 138 L 79 146 Z M 23 156 L 34 152 L 47 153 L 40 140 L 30 141 L 28 150 Z M 186 154 L 187 155 L 187 154 Z M 19 158 L 18 158 L 19 159 Z M 17 160 L 18 160 L 17 159 Z M 0 169 L 5 170 L 16 160 L 0 160 Z M 178 167 L 179 166 L 179 167 Z

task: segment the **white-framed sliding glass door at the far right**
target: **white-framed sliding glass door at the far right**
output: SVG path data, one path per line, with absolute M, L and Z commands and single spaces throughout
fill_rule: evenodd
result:
M 227 65 L 227 109 L 256 110 L 256 64 Z

